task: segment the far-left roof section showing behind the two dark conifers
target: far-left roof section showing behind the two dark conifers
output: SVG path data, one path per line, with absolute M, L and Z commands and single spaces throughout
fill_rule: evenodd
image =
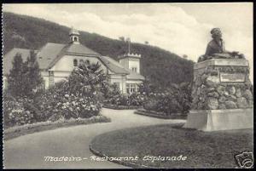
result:
M 15 59 L 15 55 L 17 53 L 21 54 L 23 61 L 26 61 L 27 57 L 30 55 L 30 49 L 12 48 L 9 53 L 5 54 L 3 56 L 3 75 L 9 74 L 9 71 L 13 67 L 13 60 Z

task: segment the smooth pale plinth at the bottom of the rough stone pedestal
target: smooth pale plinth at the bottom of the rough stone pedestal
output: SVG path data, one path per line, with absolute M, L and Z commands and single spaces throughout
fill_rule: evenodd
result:
M 253 128 L 253 108 L 189 111 L 187 123 L 183 128 L 202 131 Z

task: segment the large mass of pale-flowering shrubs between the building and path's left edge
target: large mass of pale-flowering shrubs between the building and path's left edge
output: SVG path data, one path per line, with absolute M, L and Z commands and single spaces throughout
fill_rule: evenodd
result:
M 108 91 L 107 78 L 99 64 L 88 63 L 75 69 L 67 81 L 56 83 L 31 99 L 5 93 L 5 126 L 97 116 L 102 109 L 102 94 Z

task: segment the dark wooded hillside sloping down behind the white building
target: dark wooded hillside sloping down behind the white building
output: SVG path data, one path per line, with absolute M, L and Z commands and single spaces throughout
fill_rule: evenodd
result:
M 45 43 L 67 43 L 69 29 L 47 20 L 3 13 L 3 53 L 14 47 L 39 49 Z M 124 41 L 96 33 L 80 31 L 79 40 L 88 48 L 114 60 L 118 55 L 127 53 Z M 141 73 L 156 86 L 166 88 L 170 83 L 189 82 L 193 78 L 193 61 L 177 54 L 141 43 L 131 43 L 131 52 L 142 54 Z

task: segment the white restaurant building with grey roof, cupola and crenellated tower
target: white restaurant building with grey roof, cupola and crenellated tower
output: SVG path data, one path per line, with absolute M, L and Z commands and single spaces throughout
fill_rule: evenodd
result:
M 102 56 L 79 43 L 79 31 L 71 29 L 70 43 L 46 43 L 36 51 L 41 76 L 44 78 L 44 88 L 67 79 L 79 62 L 89 60 L 99 62 L 102 70 L 110 76 L 110 83 L 116 84 L 123 94 L 137 92 L 138 84 L 144 77 L 140 74 L 141 54 L 124 54 L 119 56 L 119 62 L 108 56 Z M 15 54 L 20 53 L 23 61 L 30 55 L 30 49 L 13 48 L 3 56 L 3 87 L 7 86 L 6 78 L 12 68 Z

